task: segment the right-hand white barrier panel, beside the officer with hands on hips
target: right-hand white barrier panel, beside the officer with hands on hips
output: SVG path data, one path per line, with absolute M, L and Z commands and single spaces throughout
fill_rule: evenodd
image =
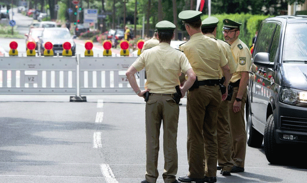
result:
M 126 71 L 137 57 L 79 57 L 79 94 L 135 94 Z M 145 70 L 135 77 L 144 88 Z

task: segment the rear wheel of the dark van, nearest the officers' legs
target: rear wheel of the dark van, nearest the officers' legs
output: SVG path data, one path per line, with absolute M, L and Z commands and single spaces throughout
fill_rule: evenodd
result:
M 247 143 L 250 147 L 261 147 L 263 142 L 263 135 L 259 133 L 253 126 L 251 121 L 251 113 L 248 108 L 247 112 L 247 124 L 246 124 L 246 133 L 247 133 Z

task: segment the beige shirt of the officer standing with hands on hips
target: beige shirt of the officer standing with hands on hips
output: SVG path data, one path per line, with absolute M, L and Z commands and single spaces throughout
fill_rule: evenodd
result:
M 147 81 L 145 88 L 151 93 L 176 93 L 179 75 L 192 69 L 187 57 L 166 42 L 145 50 L 132 64 L 137 71 L 145 67 Z

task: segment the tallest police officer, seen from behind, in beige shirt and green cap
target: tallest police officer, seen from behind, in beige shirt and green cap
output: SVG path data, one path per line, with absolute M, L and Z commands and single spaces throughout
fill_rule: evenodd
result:
M 179 49 L 187 56 L 197 76 L 187 96 L 189 174 L 178 178 L 183 183 L 216 182 L 216 122 L 222 101 L 219 69 L 226 77 L 226 87 L 230 80 L 228 61 L 219 43 L 201 32 L 201 13 L 186 10 L 178 15 L 190 35 L 190 40 L 180 45 Z M 223 95 L 223 99 L 226 95 Z M 205 154 L 206 168 L 203 165 Z

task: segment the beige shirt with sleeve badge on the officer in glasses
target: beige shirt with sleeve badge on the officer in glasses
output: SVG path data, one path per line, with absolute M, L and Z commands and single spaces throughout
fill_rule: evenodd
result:
M 234 41 L 230 47 L 233 52 L 234 60 L 238 63 L 237 71 L 232 75 L 230 79 L 230 82 L 235 82 L 241 79 L 241 71 L 249 72 L 251 65 L 251 55 L 249 52 L 249 47 L 240 39 Z

